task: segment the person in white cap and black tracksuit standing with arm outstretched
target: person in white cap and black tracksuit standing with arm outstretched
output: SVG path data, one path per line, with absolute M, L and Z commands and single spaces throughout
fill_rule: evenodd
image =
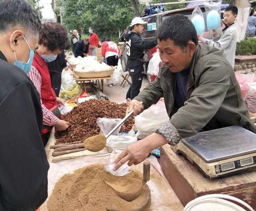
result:
M 151 49 L 157 45 L 157 40 L 148 42 L 140 38 L 144 30 L 144 22 L 142 18 L 136 17 L 132 20 L 132 31 L 125 35 L 126 54 L 128 57 L 127 68 L 132 78 L 132 84 L 126 94 L 126 99 L 133 99 L 140 93 L 143 77 L 144 49 Z

